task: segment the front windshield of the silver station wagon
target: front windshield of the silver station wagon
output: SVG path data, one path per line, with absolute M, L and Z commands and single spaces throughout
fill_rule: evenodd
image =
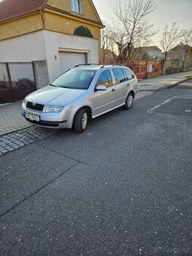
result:
M 87 90 L 95 74 L 96 70 L 70 69 L 60 75 L 51 85 L 54 87 Z

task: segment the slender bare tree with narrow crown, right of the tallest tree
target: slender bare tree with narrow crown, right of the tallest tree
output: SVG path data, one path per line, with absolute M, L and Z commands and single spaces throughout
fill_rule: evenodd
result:
M 174 22 L 172 26 L 166 25 L 160 40 L 160 45 L 164 51 L 165 59 L 163 63 L 163 75 L 166 74 L 166 61 L 169 56 L 170 50 L 178 44 L 180 34 L 177 24 Z

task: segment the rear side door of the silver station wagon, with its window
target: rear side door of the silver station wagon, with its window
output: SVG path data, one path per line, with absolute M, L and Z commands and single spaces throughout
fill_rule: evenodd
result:
M 113 68 L 111 69 L 111 71 L 113 72 L 114 81 L 115 81 L 115 87 L 114 87 L 115 94 L 116 94 L 115 105 L 119 106 L 125 102 L 127 91 L 128 91 L 127 87 L 129 86 L 129 82 L 128 82 L 129 78 L 121 68 Z

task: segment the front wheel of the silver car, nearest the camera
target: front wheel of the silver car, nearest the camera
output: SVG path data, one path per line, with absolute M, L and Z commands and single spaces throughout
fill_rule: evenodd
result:
M 85 108 L 81 108 L 74 118 L 74 130 L 75 133 L 83 133 L 87 127 L 88 113 Z

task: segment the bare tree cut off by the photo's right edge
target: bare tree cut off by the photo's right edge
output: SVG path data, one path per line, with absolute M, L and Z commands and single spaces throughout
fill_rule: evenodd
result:
M 192 47 L 192 29 L 181 29 L 181 41 L 184 44 L 184 61 L 190 56 Z

